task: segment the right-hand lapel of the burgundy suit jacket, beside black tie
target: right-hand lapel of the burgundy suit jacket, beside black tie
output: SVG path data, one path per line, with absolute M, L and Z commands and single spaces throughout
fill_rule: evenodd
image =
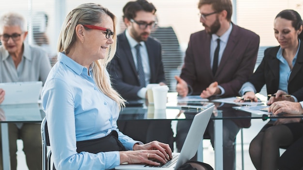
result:
M 237 36 L 238 36 L 237 32 L 239 31 L 239 28 L 238 28 L 238 26 L 234 25 L 233 23 L 231 23 L 231 24 L 232 24 L 232 30 L 230 32 L 226 47 L 222 54 L 222 58 L 221 58 L 221 61 L 220 61 L 216 74 L 222 70 L 224 64 L 228 63 L 227 60 L 229 59 L 229 56 L 232 54 L 232 51 L 235 49 L 235 46 L 239 40 L 239 38 L 237 38 Z

